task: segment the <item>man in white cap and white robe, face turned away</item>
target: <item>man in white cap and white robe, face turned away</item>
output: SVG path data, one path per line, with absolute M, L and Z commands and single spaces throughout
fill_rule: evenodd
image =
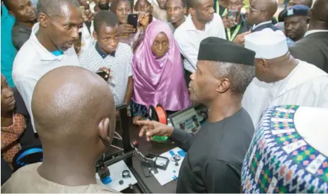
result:
M 245 37 L 245 47 L 256 52 L 256 77 L 242 100 L 254 127 L 271 105 L 328 108 L 328 74 L 291 56 L 283 32 L 266 28 L 252 33 Z

